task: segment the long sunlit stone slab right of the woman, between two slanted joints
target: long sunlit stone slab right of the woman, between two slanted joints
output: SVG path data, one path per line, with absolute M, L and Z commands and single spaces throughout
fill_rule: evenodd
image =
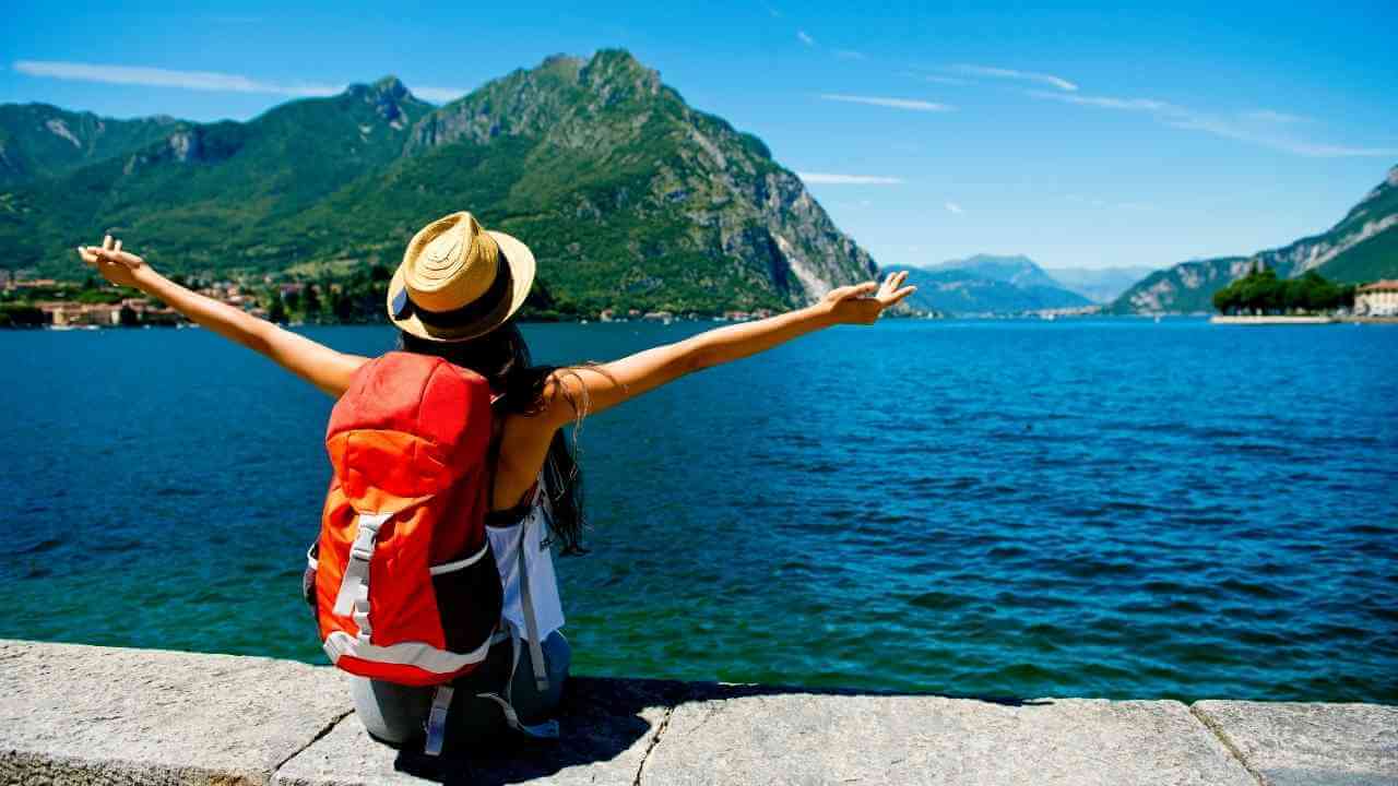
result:
M 1255 786 L 1179 702 L 728 694 L 675 709 L 642 783 Z

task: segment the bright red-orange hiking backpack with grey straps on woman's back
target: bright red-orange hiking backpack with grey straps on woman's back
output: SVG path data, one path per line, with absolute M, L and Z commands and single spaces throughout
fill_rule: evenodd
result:
M 340 669 L 446 685 L 485 660 L 502 594 L 485 536 L 491 417 L 485 378 L 412 352 L 366 362 L 336 403 L 306 590 Z

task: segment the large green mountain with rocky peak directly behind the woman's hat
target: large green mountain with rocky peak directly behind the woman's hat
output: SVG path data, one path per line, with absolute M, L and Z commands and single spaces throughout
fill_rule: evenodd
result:
M 555 56 L 433 109 L 396 78 L 0 190 L 0 266 L 81 274 L 106 227 L 172 271 L 393 266 L 471 210 L 538 259 L 531 308 L 786 308 L 868 278 L 768 147 L 622 50 Z

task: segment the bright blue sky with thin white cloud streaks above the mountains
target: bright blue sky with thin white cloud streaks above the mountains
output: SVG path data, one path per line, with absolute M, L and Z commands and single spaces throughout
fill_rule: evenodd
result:
M 1398 164 L 1391 3 L 1300 6 L 11 0 L 0 102 L 247 119 L 389 73 L 442 102 L 622 46 L 881 264 L 1166 266 L 1323 231 Z

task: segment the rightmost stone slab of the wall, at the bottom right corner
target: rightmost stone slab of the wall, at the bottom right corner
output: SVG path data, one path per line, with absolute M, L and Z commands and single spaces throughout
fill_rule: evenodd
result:
M 1398 786 L 1398 706 L 1202 701 L 1192 709 L 1267 786 Z

